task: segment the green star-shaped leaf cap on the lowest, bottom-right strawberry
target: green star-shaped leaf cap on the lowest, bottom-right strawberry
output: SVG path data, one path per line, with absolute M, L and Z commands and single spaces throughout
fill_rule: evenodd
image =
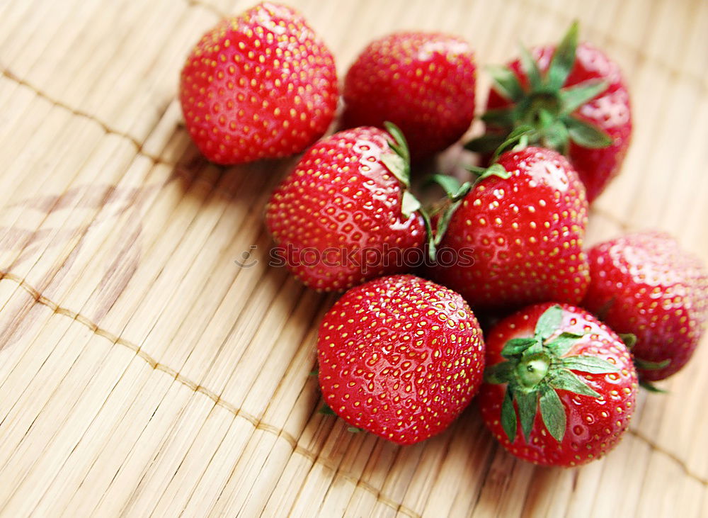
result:
M 486 383 L 506 383 L 501 424 L 511 442 L 515 440 L 518 422 L 528 442 L 539 410 L 548 432 L 556 441 L 562 441 L 566 410 L 557 391 L 600 397 L 573 371 L 619 372 L 615 365 L 596 356 L 565 356 L 583 334 L 562 331 L 562 320 L 563 310 L 559 305 L 548 308 L 536 322 L 533 337 L 510 339 L 501 350 L 506 361 L 484 371 Z

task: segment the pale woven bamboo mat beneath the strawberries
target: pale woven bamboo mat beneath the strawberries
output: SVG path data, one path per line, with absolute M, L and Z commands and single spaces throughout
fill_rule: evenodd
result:
M 579 18 L 636 120 L 590 242 L 659 227 L 708 260 L 708 2 L 289 3 L 341 73 L 395 29 L 503 62 Z M 515 461 L 474 405 L 405 449 L 317 414 L 332 299 L 263 260 L 263 203 L 292 162 L 208 164 L 175 98 L 191 45 L 250 4 L 0 0 L 0 514 L 707 516 L 708 344 L 576 470 Z

